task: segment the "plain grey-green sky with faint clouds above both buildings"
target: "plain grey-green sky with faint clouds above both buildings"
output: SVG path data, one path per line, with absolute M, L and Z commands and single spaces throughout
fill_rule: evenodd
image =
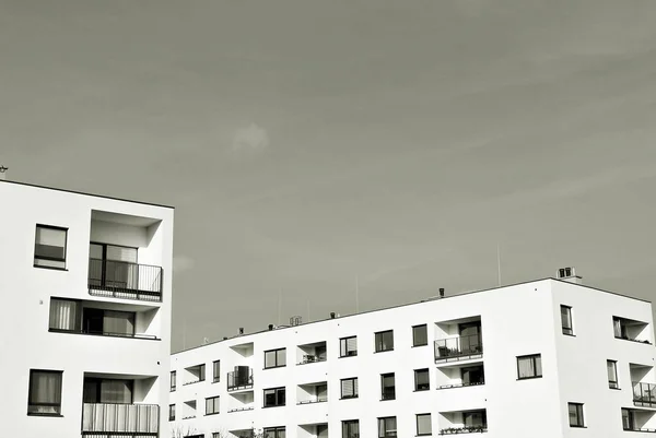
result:
M 497 244 L 504 284 L 575 265 L 653 299 L 655 23 L 653 0 L 0 0 L 0 164 L 176 206 L 174 351 L 278 323 L 280 295 L 282 322 L 353 312 L 356 277 L 360 310 L 493 287 Z

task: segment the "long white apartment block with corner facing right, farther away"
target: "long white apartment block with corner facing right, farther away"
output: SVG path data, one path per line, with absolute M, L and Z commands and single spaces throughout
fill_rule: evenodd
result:
M 656 431 L 651 304 L 558 276 L 176 353 L 174 436 Z

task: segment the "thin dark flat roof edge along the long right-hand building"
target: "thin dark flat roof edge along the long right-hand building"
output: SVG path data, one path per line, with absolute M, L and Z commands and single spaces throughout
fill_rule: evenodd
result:
M 587 286 L 587 285 L 581 284 L 581 283 L 572 283 L 572 282 L 567 282 L 565 280 L 554 279 L 552 276 L 547 276 L 544 279 L 538 279 L 538 280 L 530 280 L 530 281 L 526 281 L 526 282 L 506 284 L 505 286 L 495 286 L 495 287 L 489 287 L 489 288 L 484 288 L 484 289 L 477 289 L 477 291 L 464 292 L 461 294 L 455 294 L 455 295 L 444 296 L 444 297 L 441 297 L 441 298 L 438 298 L 438 297 L 427 297 L 425 299 L 422 299 L 421 301 L 405 303 L 405 304 L 399 304 L 399 305 L 396 305 L 396 306 L 383 307 L 383 308 L 373 309 L 373 310 L 365 310 L 365 311 L 361 311 L 361 312 L 358 312 L 358 313 L 350 313 L 350 315 L 345 315 L 343 317 L 340 316 L 339 319 L 352 318 L 352 317 L 356 317 L 356 316 L 360 316 L 360 315 L 366 315 L 366 313 L 373 313 L 373 312 L 376 312 L 376 311 L 390 310 L 390 309 L 396 309 L 396 308 L 399 308 L 399 307 L 414 306 L 414 305 L 422 304 L 422 303 L 430 303 L 430 301 L 443 300 L 443 299 L 448 299 L 448 298 L 455 298 L 455 297 L 460 297 L 460 296 L 464 296 L 464 295 L 480 294 L 482 292 L 496 291 L 496 289 L 502 289 L 502 288 L 505 288 L 505 287 L 520 286 L 523 284 L 539 283 L 539 282 L 544 282 L 547 280 L 551 280 L 551 281 L 560 282 L 560 283 L 566 283 L 566 284 L 570 284 L 570 285 L 573 285 L 573 286 L 586 287 L 588 289 L 593 289 L 593 291 L 597 291 L 597 292 L 602 292 L 605 294 L 617 295 L 617 296 L 621 296 L 623 298 L 630 298 L 630 299 L 635 299 L 637 301 L 643 301 L 643 303 L 652 304 L 652 301 L 649 301 L 648 299 L 636 298 L 636 297 L 632 297 L 632 296 L 629 296 L 629 295 L 618 294 L 617 292 L 605 291 L 605 289 L 600 289 L 598 287 Z M 337 317 L 335 319 L 337 319 Z M 229 338 L 229 339 L 222 339 L 222 340 L 218 340 L 218 341 L 210 342 L 210 343 L 207 343 L 207 344 L 201 344 L 201 345 L 192 346 L 192 347 L 189 347 L 189 348 L 184 348 L 184 350 L 180 350 L 178 352 L 172 353 L 171 355 L 175 356 L 176 354 L 179 354 L 179 353 L 185 353 L 185 352 L 189 352 L 191 350 L 206 347 L 206 346 L 209 346 L 209 345 L 218 344 L 220 342 L 227 342 L 227 341 L 232 341 L 232 340 L 235 340 L 235 339 L 242 339 L 242 338 L 246 338 L 246 336 L 251 336 L 251 335 L 255 335 L 255 334 L 268 333 L 270 331 L 292 329 L 292 328 L 300 327 L 300 325 L 316 324 L 318 322 L 325 322 L 325 321 L 330 321 L 330 320 L 332 320 L 332 318 L 325 318 L 325 319 L 319 319 L 319 320 L 312 321 L 312 322 L 304 322 L 304 323 L 301 323 L 298 325 L 280 325 L 280 327 L 278 327 L 278 328 L 276 328 L 273 330 L 267 330 L 267 329 L 265 329 L 265 330 L 259 330 L 259 331 L 256 331 L 256 332 L 237 334 L 237 335 Z M 245 342 L 248 342 L 248 341 L 245 341 Z

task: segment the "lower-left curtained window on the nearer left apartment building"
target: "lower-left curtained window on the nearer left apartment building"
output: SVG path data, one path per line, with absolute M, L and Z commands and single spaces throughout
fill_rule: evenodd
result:
M 30 370 L 27 415 L 61 415 L 63 371 Z

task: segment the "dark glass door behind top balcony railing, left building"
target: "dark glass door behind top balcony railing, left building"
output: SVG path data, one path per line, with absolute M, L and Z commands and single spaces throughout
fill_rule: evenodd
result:
M 90 282 L 103 287 L 137 291 L 139 265 L 137 248 L 92 242 L 89 249 Z

